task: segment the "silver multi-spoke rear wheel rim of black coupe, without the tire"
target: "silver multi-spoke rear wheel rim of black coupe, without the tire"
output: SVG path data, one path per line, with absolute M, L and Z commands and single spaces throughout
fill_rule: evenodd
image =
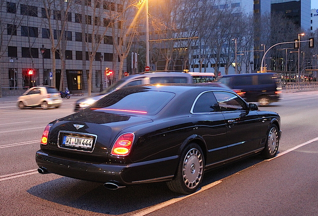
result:
M 194 188 L 202 178 L 203 159 L 200 151 L 191 148 L 183 160 L 182 176 L 185 186 L 189 189 Z

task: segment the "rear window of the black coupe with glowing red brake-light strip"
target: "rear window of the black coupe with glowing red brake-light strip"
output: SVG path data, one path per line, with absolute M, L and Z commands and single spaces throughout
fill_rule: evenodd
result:
M 101 98 L 90 106 L 91 110 L 154 115 L 160 111 L 173 97 L 174 93 L 151 91 L 146 88 L 123 88 Z

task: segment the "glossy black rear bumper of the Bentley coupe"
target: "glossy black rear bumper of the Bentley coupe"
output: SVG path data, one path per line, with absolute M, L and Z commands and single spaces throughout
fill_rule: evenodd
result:
M 38 150 L 35 160 L 48 172 L 95 182 L 117 182 L 130 185 L 171 180 L 178 163 L 178 156 L 129 164 L 88 163 L 49 155 Z

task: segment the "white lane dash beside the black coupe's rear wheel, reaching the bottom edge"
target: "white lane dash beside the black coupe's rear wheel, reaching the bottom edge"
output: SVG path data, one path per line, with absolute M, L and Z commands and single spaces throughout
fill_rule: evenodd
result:
M 205 185 L 205 186 L 202 186 L 200 190 L 198 190 L 198 191 L 196 191 L 196 192 L 194 192 L 194 193 L 191 193 L 191 194 L 188 194 L 188 195 L 184 195 L 184 196 L 179 196 L 179 197 L 176 197 L 176 198 L 173 198 L 173 199 L 164 201 L 164 202 L 162 202 L 162 203 L 158 203 L 158 204 L 156 204 L 156 205 L 153 205 L 153 206 L 151 206 L 151 207 L 149 207 L 149 208 L 146 208 L 146 209 L 144 209 L 144 210 L 142 210 L 142 211 L 139 211 L 139 212 L 137 212 L 137 213 L 135 213 L 135 214 L 132 214 L 132 215 L 130 215 L 130 216 L 143 216 L 143 215 L 146 215 L 146 214 L 151 213 L 151 212 L 153 212 L 153 211 L 155 211 L 155 210 L 158 210 L 158 209 L 160 209 L 160 208 L 163 208 L 163 207 L 165 207 L 165 206 L 168 206 L 168 205 L 170 205 L 170 204 L 173 204 L 173 203 L 175 203 L 175 202 L 178 202 L 178 201 L 180 201 L 180 200 L 182 200 L 182 199 L 185 199 L 185 198 L 187 198 L 187 197 L 190 197 L 190 196 L 192 196 L 192 195 L 195 195 L 196 193 L 199 193 L 199 192 L 202 192 L 202 191 L 204 191 L 204 190 L 206 190 L 206 189 L 209 189 L 209 188 L 211 188 L 211 187 L 213 187 L 213 186 L 215 186 L 215 185 L 217 185 L 217 184 L 219 184 L 219 183 L 221 183 L 221 182 L 222 182 L 221 180 L 214 181 L 214 182 L 212 182 L 212 183 L 210 183 L 210 184 L 207 184 L 207 185 Z

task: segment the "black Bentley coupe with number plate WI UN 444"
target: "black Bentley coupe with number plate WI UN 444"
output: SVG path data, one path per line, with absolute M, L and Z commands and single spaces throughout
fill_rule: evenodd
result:
M 40 173 L 109 189 L 166 181 L 188 194 L 207 169 L 256 153 L 274 157 L 280 131 L 277 113 L 226 88 L 136 85 L 47 124 L 36 162 Z

